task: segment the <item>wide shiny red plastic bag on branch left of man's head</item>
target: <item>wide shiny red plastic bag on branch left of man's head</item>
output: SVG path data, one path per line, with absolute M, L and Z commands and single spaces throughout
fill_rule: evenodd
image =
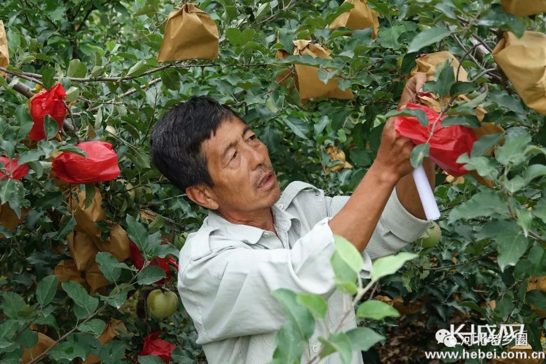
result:
M 93 140 L 76 144 L 87 153 L 84 158 L 76 153 L 62 152 L 51 165 L 57 178 L 68 183 L 97 183 L 110 181 L 120 175 L 117 154 L 112 145 Z

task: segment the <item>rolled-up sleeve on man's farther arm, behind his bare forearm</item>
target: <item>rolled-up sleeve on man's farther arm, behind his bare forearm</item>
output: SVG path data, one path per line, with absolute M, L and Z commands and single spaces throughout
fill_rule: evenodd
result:
M 328 216 L 335 216 L 345 206 L 349 198 L 351 196 L 325 196 Z M 364 252 L 372 260 L 395 254 L 408 243 L 422 236 L 428 226 L 428 221 L 419 219 L 406 210 L 396 194 L 395 187 Z

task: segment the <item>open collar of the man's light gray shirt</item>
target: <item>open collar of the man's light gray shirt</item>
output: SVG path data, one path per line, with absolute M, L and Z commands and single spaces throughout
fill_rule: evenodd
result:
M 275 225 L 281 229 L 288 231 L 290 226 L 292 226 L 292 220 L 296 221 L 295 227 L 299 229 L 301 222 L 293 214 L 284 211 L 277 205 L 271 206 L 271 213 L 273 214 Z M 215 210 L 209 210 L 209 215 L 206 217 L 204 223 L 208 226 L 219 227 L 223 236 L 233 238 L 233 240 L 244 241 L 248 244 L 256 244 L 264 232 L 266 232 L 266 230 L 256 228 L 255 226 L 229 222 Z

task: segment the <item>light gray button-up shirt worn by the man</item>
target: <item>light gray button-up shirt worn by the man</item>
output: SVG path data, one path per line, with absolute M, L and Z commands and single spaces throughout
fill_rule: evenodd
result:
M 341 331 L 356 327 L 352 297 L 336 289 L 330 264 L 335 243 L 328 222 L 349 198 L 325 196 L 322 189 L 294 181 L 271 206 L 278 237 L 228 222 L 212 210 L 201 228 L 188 235 L 180 250 L 178 291 L 209 364 L 272 359 L 275 332 L 287 320 L 270 294 L 278 288 L 319 294 L 328 302 L 327 317 L 324 323 L 317 321 L 301 363 L 318 353 L 318 338 L 328 337 L 349 308 Z M 428 226 L 402 206 L 395 188 L 362 254 L 361 277 L 370 277 L 372 260 L 398 252 Z M 321 363 L 341 364 L 341 359 L 334 353 Z M 355 352 L 352 364 L 362 363 Z

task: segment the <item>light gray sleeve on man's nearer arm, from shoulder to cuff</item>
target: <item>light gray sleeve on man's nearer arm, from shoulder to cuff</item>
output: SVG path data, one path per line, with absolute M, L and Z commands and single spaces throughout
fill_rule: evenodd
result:
M 292 249 L 252 249 L 233 242 L 236 246 L 190 261 L 178 288 L 198 328 L 199 344 L 278 330 L 286 320 L 271 295 L 278 288 L 328 299 L 336 289 L 330 220 L 319 221 Z

